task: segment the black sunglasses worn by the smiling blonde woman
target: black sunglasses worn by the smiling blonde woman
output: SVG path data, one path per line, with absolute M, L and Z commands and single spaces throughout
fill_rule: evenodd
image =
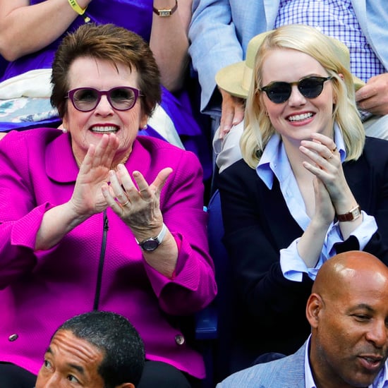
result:
M 275 104 L 282 104 L 290 98 L 293 85 L 298 86 L 299 92 L 304 97 L 315 98 L 322 93 L 323 84 L 331 79 L 332 77 L 310 76 L 293 83 L 272 82 L 259 90 L 260 92 L 266 92 L 268 98 Z

